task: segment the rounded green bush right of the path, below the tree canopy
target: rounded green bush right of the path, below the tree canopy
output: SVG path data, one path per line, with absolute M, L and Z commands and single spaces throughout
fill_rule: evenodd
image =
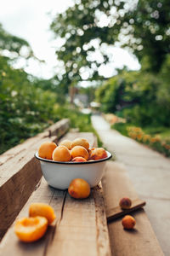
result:
M 129 123 L 170 125 L 170 90 L 161 75 L 146 72 L 122 72 L 96 90 L 102 110 L 116 113 Z

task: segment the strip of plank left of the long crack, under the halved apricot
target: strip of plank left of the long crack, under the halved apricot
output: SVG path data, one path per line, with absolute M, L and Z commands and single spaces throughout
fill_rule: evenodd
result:
M 28 216 L 28 209 L 32 202 L 43 201 L 44 203 L 50 204 L 50 202 L 55 199 L 56 206 L 54 207 L 54 211 L 59 220 L 60 212 L 62 211 L 63 198 L 65 195 L 65 191 L 56 190 L 50 188 L 44 178 L 42 178 L 41 183 L 39 184 L 39 188 L 34 191 L 26 203 L 26 206 L 23 207 L 20 212 L 18 218 Z M 46 248 L 48 245 L 48 241 L 51 238 L 51 233 L 53 231 L 54 226 L 48 229 L 48 232 L 41 240 L 36 241 L 31 244 L 26 244 L 24 242 L 19 241 L 17 236 L 14 234 L 14 224 L 9 228 L 7 234 L 3 237 L 3 241 L 0 244 L 0 255 L 8 256 L 8 255 L 17 255 L 17 256 L 42 256 L 46 253 Z

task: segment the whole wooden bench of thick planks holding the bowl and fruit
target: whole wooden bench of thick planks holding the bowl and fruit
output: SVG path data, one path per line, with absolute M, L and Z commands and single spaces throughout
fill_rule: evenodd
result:
M 126 171 L 119 164 L 108 163 L 102 180 L 103 187 L 99 184 L 92 189 L 88 199 L 82 201 L 72 199 L 66 190 L 48 186 L 33 155 L 43 141 L 49 140 L 48 136 L 56 142 L 68 131 L 68 126 L 68 120 L 62 120 L 53 125 L 53 129 L 49 128 L 49 131 L 0 156 L 3 167 L 0 174 L 4 172 L 0 189 L 3 198 L 0 202 L 1 234 L 8 229 L 0 244 L 0 255 L 163 255 L 144 210 L 135 213 L 138 226 L 133 232 L 122 229 L 121 218 L 107 225 L 106 214 L 109 215 L 108 212 L 117 207 L 123 193 L 132 199 L 138 198 Z M 91 147 L 97 146 L 92 133 L 69 132 L 65 135 L 71 140 L 76 137 L 87 138 Z M 57 221 L 48 228 L 41 240 L 26 244 L 14 234 L 14 219 L 18 213 L 17 218 L 27 216 L 31 202 L 37 201 L 54 207 Z

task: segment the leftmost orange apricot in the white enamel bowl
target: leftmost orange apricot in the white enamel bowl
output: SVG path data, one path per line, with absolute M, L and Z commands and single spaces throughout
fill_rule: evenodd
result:
M 38 149 L 38 155 L 42 158 L 52 160 L 52 154 L 57 145 L 53 142 L 42 143 Z

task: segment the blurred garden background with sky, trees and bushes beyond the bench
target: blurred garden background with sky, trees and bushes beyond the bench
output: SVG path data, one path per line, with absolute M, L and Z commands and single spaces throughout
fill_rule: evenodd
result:
M 0 154 L 91 115 L 170 156 L 167 0 L 6 0 L 0 9 Z M 94 131 L 95 132 L 95 131 Z

